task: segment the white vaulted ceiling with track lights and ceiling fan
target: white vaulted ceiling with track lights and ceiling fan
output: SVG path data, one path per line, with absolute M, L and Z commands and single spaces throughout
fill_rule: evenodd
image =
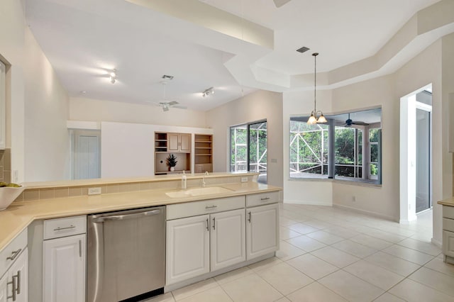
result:
M 166 99 L 205 111 L 255 89 L 285 91 L 279 81 L 313 72 L 314 51 L 320 72 L 375 55 L 414 13 L 438 0 L 292 0 L 279 9 L 272 0 L 199 1 L 208 13 L 221 9 L 274 31 L 273 49 L 245 42 L 243 29 L 234 38 L 216 24 L 188 21 L 179 1 L 196 6 L 166 0 L 175 4 L 175 13 L 166 14 L 124 0 L 26 0 L 26 18 L 70 96 L 151 105 L 162 101 L 160 77 L 169 74 L 175 79 Z M 311 50 L 296 52 L 301 46 Z M 240 69 L 251 62 L 278 74 L 275 82 L 258 81 L 253 67 Z M 107 77 L 113 68 L 116 84 Z M 216 94 L 202 98 L 211 86 Z

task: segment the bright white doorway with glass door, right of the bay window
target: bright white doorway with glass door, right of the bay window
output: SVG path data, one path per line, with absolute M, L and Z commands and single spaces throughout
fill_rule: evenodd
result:
M 432 86 L 400 102 L 400 222 L 432 208 Z

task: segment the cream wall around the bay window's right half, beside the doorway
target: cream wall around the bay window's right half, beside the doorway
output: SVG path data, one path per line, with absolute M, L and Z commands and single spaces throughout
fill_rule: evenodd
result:
M 382 107 L 382 187 L 333 182 L 333 204 L 399 218 L 399 98 L 391 75 L 333 90 L 333 111 Z M 352 196 L 355 196 L 353 201 Z

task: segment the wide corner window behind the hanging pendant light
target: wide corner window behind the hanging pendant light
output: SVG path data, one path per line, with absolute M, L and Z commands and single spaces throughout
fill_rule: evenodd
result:
M 326 116 L 328 123 L 315 125 L 307 125 L 308 116 L 290 118 L 290 178 L 380 184 L 381 115 L 381 108 L 355 111 Z

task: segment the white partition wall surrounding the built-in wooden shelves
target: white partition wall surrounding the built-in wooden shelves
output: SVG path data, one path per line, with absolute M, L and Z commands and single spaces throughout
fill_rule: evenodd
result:
M 155 174 L 155 131 L 213 134 L 211 129 L 147 125 L 138 123 L 101 123 L 101 177 L 145 177 Z M 194 143 L 192 143 L 194 171 Z M 177 155 L 178 156 L 178 155 Z

